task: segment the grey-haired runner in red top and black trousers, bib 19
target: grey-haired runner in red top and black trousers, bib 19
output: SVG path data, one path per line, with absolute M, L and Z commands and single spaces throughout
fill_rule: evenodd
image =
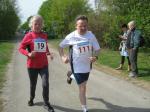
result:
M 44 108 L 49 112 L 54 109 L 49 103 L 49 72 L 47 55 L 53 59 L 47 45 L 47 34 L 42 32 L 43 19 L 41 16 L 33 16 L 29 26 L 31 31 L 28 32 L 19 47 L 19 52 L 27 56 L 27 69 L 30 78 L 30 100 L 29 106 L 33 106 L 35 97 L 36 83 L 38 74 L 42 78 Z

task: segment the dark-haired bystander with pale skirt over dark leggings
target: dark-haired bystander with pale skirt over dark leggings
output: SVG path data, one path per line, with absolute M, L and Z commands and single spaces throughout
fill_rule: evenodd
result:
M 120 62 L 120 66 L 117 67 L 116 70 L 122 70 L 123 69 L 123 65 L 124 65 L 125 57 L 126 57 L 128 60 L 128 71 L 130 71 L 131 70 L 131 63 L 129 60 L 128 49 L 126 46 L 126 43 L 127 43 L 127 36 L 126 35 L 127 35 L 128 27 L 126 24 L 123 24 L 121 26 L 121 29 L 123 31 L 123 35 L 119 35 L 119 38 L 121 39 L 120 46 L 119 46 L 119 51 L 120 51 L 120 55 L 121 55 L 121 62 Z

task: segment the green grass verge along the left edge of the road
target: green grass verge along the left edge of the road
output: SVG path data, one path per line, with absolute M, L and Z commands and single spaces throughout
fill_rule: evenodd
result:
M 3 87 L 5 81 L 6 67 L 11 59 L 13 48 L 13 42 L 0 42 L 0 88 Z

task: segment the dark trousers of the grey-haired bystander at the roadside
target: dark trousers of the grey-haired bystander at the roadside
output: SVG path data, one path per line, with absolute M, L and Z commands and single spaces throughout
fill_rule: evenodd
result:
M 134 75 L 138 75 L 137 56 L 138 56 L 138 49 L 130 49 L 129 59 L 131 62 L 131 71 Z

